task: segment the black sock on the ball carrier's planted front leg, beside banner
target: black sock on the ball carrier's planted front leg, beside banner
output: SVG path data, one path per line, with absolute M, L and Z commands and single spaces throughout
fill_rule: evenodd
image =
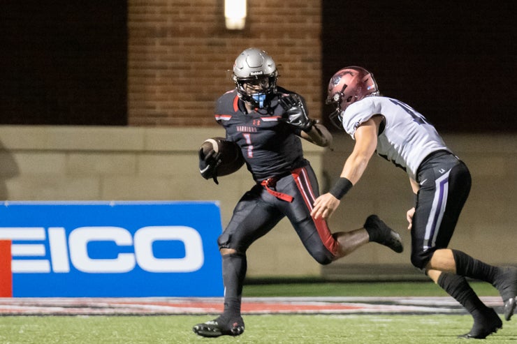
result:
M 231 253 L 223 255 L 224 316 L 228 320 L 240 317 L 242 284 L 246 276 L 246 255 Z

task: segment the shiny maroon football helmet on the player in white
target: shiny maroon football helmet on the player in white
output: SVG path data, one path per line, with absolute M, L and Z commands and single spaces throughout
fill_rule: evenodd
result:
M 337 71 L 328 83 L 326 104 L 334 104 L 336 110 L 328 116 L 330 121 L 342 128 L 342 112 L 351 104 L 366 96 L 379 96 L 373 74 L 365 68 L 349 66 Z

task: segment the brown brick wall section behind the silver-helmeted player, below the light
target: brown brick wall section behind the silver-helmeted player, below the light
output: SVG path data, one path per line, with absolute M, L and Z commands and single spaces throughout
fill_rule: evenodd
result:
M 321 116 L 321 1 L 248 1 L 246 28 L 224 27 L 222 0 L 128 1 L 130 126 L 214 126 L 214 101 L 233 88 L 235 57 L 260 47 L 279 85 Z

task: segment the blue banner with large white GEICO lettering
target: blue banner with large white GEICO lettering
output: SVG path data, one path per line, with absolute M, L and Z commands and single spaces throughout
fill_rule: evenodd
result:
M 217 202 L 0 207 L 13 297 L 219 297 L 220 233 Z

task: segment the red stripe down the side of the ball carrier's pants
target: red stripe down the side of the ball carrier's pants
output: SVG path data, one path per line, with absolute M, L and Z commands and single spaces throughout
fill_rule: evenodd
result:
M 312 211 L 316 197 L 314 196 L 314 191 L 312 190 L 307 170 L 305 167 L 300 167 L 291 171 L 291 174 L 296 182 L 296 186 L 298 186 L 298 190 L 300 190 L 300 193 L 303 196 L 303 200 L 305 201 L 307 208 Z M 322 218 L 318 218 L 317 220 L 312 218 L 312 220 L 314 221 L 314 225 L 316 225 L 316 230 L 318 231 L 318 235 L 323 242 L 323 245 L 330 251 L 330 253 L 336 256 L 340 244 L 332 236 L 326 220 L 323 220 Z

